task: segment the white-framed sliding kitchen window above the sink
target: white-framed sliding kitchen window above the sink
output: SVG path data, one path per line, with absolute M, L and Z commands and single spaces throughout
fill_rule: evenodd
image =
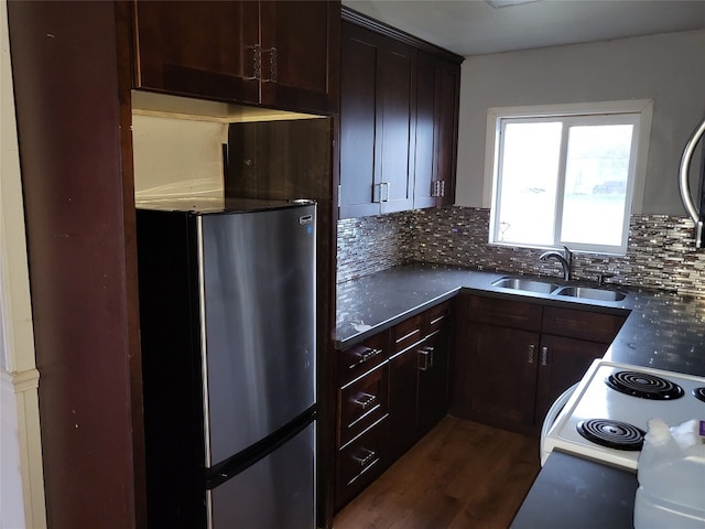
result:
M 643 198 L 651 107 L 490 109 L 490 244 L 625 255 Z

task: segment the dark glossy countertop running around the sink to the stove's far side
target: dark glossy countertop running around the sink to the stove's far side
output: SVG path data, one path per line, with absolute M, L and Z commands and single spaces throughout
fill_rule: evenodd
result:
M 629 314 L 606 359 L 705 376 L 705 299 L 629 290 L 622 301 L 601 302 L 491 285 L 505 276 L 512 274 L 409 264 L 339 284 L 336 346 L 354 345 L 468 289 L 486 295 Z

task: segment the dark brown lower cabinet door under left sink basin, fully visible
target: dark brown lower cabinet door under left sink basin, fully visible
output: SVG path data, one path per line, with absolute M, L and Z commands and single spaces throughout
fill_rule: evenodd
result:
M 457 397 L 467 400 L 456 399 L 457 414 L 499 427 L 532 425 L 539 334 L 479 323 L 466 333 L 468 365 L 456 385 L 466 386 Z

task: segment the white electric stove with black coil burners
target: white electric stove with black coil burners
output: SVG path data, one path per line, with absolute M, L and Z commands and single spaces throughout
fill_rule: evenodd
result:
M 650 419 L 670 427 L 705 421 L 705 377 L 598 359 L 553 414 L 542 434 L 542 465 L 560 450 L 636 469 Z

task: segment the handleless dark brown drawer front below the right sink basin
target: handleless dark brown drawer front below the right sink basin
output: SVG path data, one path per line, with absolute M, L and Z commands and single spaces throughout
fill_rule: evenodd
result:
M 610 344 L 623 323 L 623 316 L 545 306 L 542 331 L 556 336 Z

